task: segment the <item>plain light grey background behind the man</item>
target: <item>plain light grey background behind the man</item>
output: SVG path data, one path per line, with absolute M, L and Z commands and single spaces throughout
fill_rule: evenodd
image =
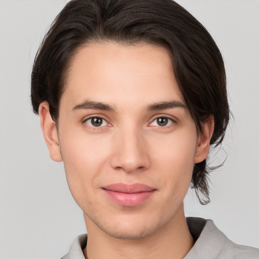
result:
M 259 1 L 179 0 L 225 59 L 235 116 L 212 175 L 211 203 L 187 194 L 187 215 L 210 218 L 233 241 L 259 247 Z M 85 232 L 62 163 L 49 158 L 30 108 L 30 72 L 66 0 L 0 0 L 0 258 L 59 258 Z M 224 159 L 220 151 L 216 162 Z M 108 215 L 107 215 L 108 217 Z

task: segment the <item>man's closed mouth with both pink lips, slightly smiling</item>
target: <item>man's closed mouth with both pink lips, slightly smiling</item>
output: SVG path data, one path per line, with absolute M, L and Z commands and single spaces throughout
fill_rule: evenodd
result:
M 111 184 L 102 188 L 112 201 L 123 206 L 137 206 L 151 198 L 156 189 L 144 184 Z

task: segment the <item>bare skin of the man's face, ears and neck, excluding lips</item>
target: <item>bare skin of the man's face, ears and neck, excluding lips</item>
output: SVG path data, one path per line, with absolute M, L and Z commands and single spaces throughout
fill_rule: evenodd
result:
M 84 46 L 72 59 L 64 89 L 58 132 L 47 102 L 39 115 L 50 156 L 64 162 L 83 210 L 85 257 L 183 258 L 194 244 L 183 199 L 194 163 L 208 154 L 213 118 L 198 134 L 167 51 L 147 44 Z M 148 109 L 172 101 L 182 107 Z M 103 118 L 101 126 L 92 117 Z M 159 124 L 157 118 L 165 117 Z M 114 183 L 142 183 L 155 192 L 140 205 L 123 206 L 102 189 Z

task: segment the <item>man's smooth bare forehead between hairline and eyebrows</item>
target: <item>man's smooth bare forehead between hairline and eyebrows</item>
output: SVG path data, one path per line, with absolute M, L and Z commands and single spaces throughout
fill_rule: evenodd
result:
M 167 50 L 142 44 L 92 44 L 72 58 L 61 103 L 85 99 L 119 104 L 177 100 L 184 103 Z

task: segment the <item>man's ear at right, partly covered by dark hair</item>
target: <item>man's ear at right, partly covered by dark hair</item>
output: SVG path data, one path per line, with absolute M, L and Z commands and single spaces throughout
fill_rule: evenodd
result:
M 201 123 L 201 133 L 198 137 L 194 163 L 202 162 L 209 152 L 209 142 L 214 130 L 214 117 L 210 115 L 205 122 Z

